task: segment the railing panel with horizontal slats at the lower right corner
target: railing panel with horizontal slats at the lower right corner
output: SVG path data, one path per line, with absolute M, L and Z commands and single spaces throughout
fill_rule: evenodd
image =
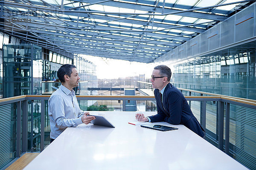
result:
M 250 169 L 255 167 L 255 109 L 230 104 L 230 156 Z

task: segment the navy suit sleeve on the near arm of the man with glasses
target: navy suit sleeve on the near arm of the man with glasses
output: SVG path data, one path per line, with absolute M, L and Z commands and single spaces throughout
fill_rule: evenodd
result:
M 182 98 L 177 92 L 172 92 L 168 96 L 169 114 L 164 121 L 173 125 L 179 125 L 181 122 Z

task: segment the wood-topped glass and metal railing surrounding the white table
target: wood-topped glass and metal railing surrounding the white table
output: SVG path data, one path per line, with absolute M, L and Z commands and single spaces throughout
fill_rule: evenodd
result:
M 256 101 L 229 96 L 185 97 L 206 130 L 205 139 L 246 167 L 255 169 Z M 48 99 L 49 95 L 0 99 L 0 169 L 25 152 L 41 152 L 47 147 L 50 132 Z M 78 95 L 77 99 L 81 108 L 85 105 L 82 101 L 97 101 L 95 106 L 108 102 L 107 108 L 112 102 L 113 111 L 125 111 L 125 101 L 135 100 L 141 103 L 139 107 L 156 111 L 155 106 L 150 105 L 155 102 L 154 96 Z

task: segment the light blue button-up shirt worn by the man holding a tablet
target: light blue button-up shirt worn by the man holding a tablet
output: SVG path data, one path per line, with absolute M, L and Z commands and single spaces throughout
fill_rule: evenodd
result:
M 78 105 L 75 91 L 70 91 L 63 85 L 50 96 L 48 114 L 51 139 L 56 139 L 67 127 L 76 127 L 83 123 L 81 117 L 84 111 Z

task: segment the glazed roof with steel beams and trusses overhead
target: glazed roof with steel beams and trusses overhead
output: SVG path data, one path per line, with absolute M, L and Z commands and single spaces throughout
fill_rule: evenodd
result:
M 44 3 L 44 1 L 46 3 Z M 132 52 L 133 55 L 136 56 L 135 58 L 138 59 L 141 59 L 141 57 L 145 57 L 145 45 L 151 45 L 149 48 L 151 51 L 147 53 L 152 53 L 152 56 L 153 54 L 159 55 L 159 50 L 161 52 L 164 51 L 161 54 L 165 54 L 166 52 L 171 50 L 171 47 L 166 46 L 170 45 L 171 40 L 173 41 L 171 46 L 175 44 L 176 47 L 191 38 L 190 35 L 182 37 L 178 37 L 177 35 L 193 33 L 193 35 L 197 35 L 200 32 L 204 32 L 208 29 L 208 23 L 205 23 L 201 26 L 191 26 L 189 28 L 186 26 L 177 28 L 177 26 L 183 26 L 184 23 L 192 24 L 215 21 L 211 23 L 211 25 L 213 26 L 216 23 L 222 21 L 221 19 L 219 19 L 221 18 L 219 16 L 230 14 L 230 10 L 232 10 L 236 5 L 239 5 L 238 3 L 212 9 L 190 11 L 189 13 L 184 12 L 180 14 L 161 15 L 163 0 L 159 0 L 157 10 L 153 11 L 152 14 L 160 15 L 148 15 L 148 10 L 151 11 L 151 9 L 154 9 L 157 0 L 115 0 L 116 2 L 108 2 L 102 0 L 64 0 L 63 9 L 67 11 L 65 13 L 57 10 L 52 10 L 53 8 L 55 8 L 55 6 L 56 8 L 61 9 L 60 5 L 62 0 L 44 1 L 32 0 L 29 2 L 36 2 L 36 4 L 32 5 L 49 8 L 49 10 L 38 9 L 38 11 L 33 11 L 35 10 L 34 8 L 25 7 L 19 5 L 18 3 L 15 7 L 10 7 L 3 3 L 4 8 L 9 10 L 9 12 L 5 12 L 3 14 L 3 17 L 8 17 L 12 15 L 12 12 L 10 11 L 14 11 L 15 14 L 24 11 L 32 11 L 31 13 L 27 13 L 29 15 L 15 15 L 15 18 L 28 18 L 31 19 L 31 22 L 34 23 L 48 22 L 49 24 L 53 24 L 54 26 L 50 27 L 48 25 L 43 26 L 41 24 L 28 24 L 28 26 L 25 27 L 24 24 L 15 22 L 15 20 L 13 20 L 12 22 L 20 26 L 20 28 L 24 28 L 24 31 L 38 31 L 38 37 L 40 38 L 50 37 L 47 41 L 51 41 L 54 39 L 54 37 L 58 37 L 59 41 L 55 41 L 52 44 L 56 45 L 56 49 L 63 48 L 64 50 L 66 50 L 65 52 L 74 52 L 74 49 L 67 49 L 66 47 L 70 45 L 70 42 L 76 40 L 80 40 L 78 41 L 78 43 L 79 47 L 81 47 L 81 51 L 86 51 L 86 49 L 91 48 L 94 49 L 94 51 L 99 51 L 100 54 L 104 54 L 104 50 L 109 50 L 103 48 L 103 45 L 111 44 L 112 46 L 114 46 L 114 44 L 112 43 L 115 43 L 118 44 L 118 48 L 122 49 L 122 51 L 127 50 L 127 53 Z M 174 10 L 178 9 L 186 11 L 190 8 L 214 6 L 216 4 L 231 3 L 237 1 L 239 0 L 165 0 L 166 4 L 164 8 L 164 13 L 173 11 L 172 5 L 170 4 L 174 4 Z M 90 2 L 93 2 L 93 5 L 90 5 Z M 118 6 L 116 6 L 116 4 L 118 4 Z M 29 5 L 29 3 L 27 3 L 26 5 Z M 73 7 L 79 8 L 72 9 Z M 90 13 L 90 11 L 96 12 Z M 135 13 L 137 13 L 138 15 L 135 15 Z M 34 14 L 34 16 L 32 16 L 31 14 Z M 35 17 L 35 14 L 38 17 Z M 26 15 L 26 17 L 24 17 L 23 15 Z M 198 16 L 200 17 L 200 15 L 202 15 L 202 18 L 198 18 Z M 214 15 L 218 15 L 218 17 L 215 17 Z M 149 20 L 150 18 L 151 20 Z M 64 29 L 62 27 L 58 27 L 69 26 L 69 24 L 70 26 L 72 26 L 70 27 L 71 29 Z M 170 29 L 172 27 L 174 29 Z M 35 40 L 38 40 L 38 37 L 36 37 L 35 34 L 33 34 L 33 36 Z M 145 42 L 141 42 L 141 40 L 145 40 Z M 152 41 L 147 42 L 147 40 Z M 83 41 L 83 43 L 81 43 L 81 41 Z M 137 47 L 138 44 L 144 45 L 143 47 L 141 47 L 141 51 L 138 48 L 134 48 Z M 163 48 L 157 48 L 157 45 Z M 113 51 L 114 55 L 116 55 L 115 52 L 116 51 Z M 231 61 L 230 64 L 232 64 Z

